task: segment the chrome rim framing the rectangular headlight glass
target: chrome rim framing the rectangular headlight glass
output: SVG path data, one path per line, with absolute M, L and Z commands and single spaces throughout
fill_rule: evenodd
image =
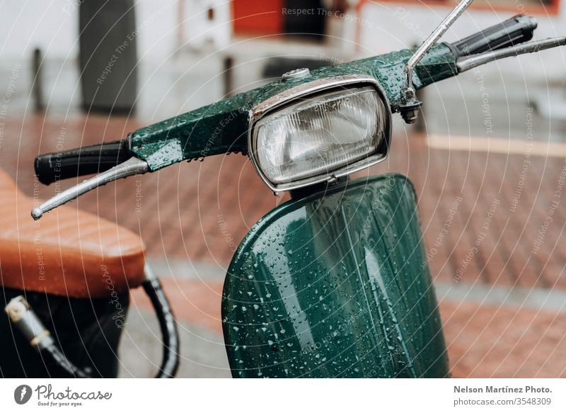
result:
M 375 152 L 369 154 L 368 157 L 360 159 L 357 162 L 352 162 L 352 164 L 343 166 L 339 169 L 336 169 L 335 171 L 330 171 L 330 173 L 320 174 L 318 176 L 312 176 L 305 179 L 299 179 L 290 183 L 275 184 L 270 181 L 267 176 L 265 176 L 265 174 L 260 169 L 259 162 L 256 157 L 257 148 L 255 147 L 255 142 L 253 142 L 253 130 L 260 119 L 264 118 L 266 115 L 269 115 L 273 111 L 282 108 L 282 106 L 293 103 L 294 101 L 296 101 L 296 99 L 299 98 L 304 98 L 323 92 L 329 92 L 333 89 L 344 90 L 350 89 L 352 87 L 361 88 L 364 86 L 372 86 L 374 89 L 376 89 L 376 92 L 381 98 L 383 105 L 386 106 L 386 119 L 383 120 L 384 139 Z M 250 123 L 248 128 L 248 155 L 262 181 L 264 181 L 264 183 L 274 193 L 294 191 L 295 189 L 305 188 L 306 186 L 315 185 L 316 183 L 336 181 L 337 179 L 350 174 L 354 174 L 354 172 L 362 171 L 363 169 L 379 164 L 379 162 L 385 160 L 388 156 L 389 147 L 391 145 L 392 122 L 393 120 L 391 115 L 391 105 L 389 103 L 387 95 L 381 87 L 381 84 L 379 84 L 379 82 L 376 81 L 376 79 L 374 79 L 373 77 L 360 74 L 352 74 L 330 77 L 326 79 L 316 79 L 304 84 L 300 84 L 298 86 L 294 86 L 290 89 L 287 89 L 286 91 L 282 91 L 281 93 L 272 96 L 265 101 L 262 101 L 262 103 L 259 103 L 257 106 L 252 108 L 252 110 L 250 111 Z

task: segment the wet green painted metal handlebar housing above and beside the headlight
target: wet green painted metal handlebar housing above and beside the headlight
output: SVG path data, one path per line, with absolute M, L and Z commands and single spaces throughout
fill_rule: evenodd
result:
M 175 116 L 163 122 L 141 128 L 132 135 L 132 152 L 156 171 L 183 160 L 192 160 L 216 154 L 246 153 L 249 111 L 253 106 L 298 84 L 342 74 L 366 74 L 383 86 L 391 103 L 400 97 L 403 67 L 412 55 L 411 50 L 400 50 L 340 64 L 323 67 L 309 77 L 289 81 L 275 81 L 233 98 Z M 435 46 L 417 66 L 415 87 L 456 76 L 456 57 L 448 45 Z

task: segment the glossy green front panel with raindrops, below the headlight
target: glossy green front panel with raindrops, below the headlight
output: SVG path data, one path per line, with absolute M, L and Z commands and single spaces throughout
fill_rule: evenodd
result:
M 291 200 L 246 235 L 222 322 L 234 377 L 446 377 L 446 346 L 405 176 Z

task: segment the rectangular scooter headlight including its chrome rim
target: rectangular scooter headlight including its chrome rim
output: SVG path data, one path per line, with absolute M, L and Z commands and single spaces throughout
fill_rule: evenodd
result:
M 352 174 L 385 159 L 391 110 L 373 78 L 311 81 L 256 106 L 250 157 L 273 191 Z

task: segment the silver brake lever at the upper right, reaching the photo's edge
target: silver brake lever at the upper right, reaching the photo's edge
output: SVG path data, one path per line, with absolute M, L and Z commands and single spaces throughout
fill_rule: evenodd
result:
M 466 72 L 466 70 L 473 69 L 474 67 L 481 66 L 482 64 L 504 59 L 505 57 L 516 57 L 519 55 L 525 55 L 526 53 L 541 52 L 543 50 L 564 45 L 566 45 L 566 38 L 552 38 L 521 43 L 520 45 L 507 47 L 502 50 L 495 50 L 493 52 L 482 53 L 481 55 L 466 57 L 465 59 L 458 60 L 458 62 L 456 62 L 456 67 L 458 67 L 458 73 L 462 73 Z

